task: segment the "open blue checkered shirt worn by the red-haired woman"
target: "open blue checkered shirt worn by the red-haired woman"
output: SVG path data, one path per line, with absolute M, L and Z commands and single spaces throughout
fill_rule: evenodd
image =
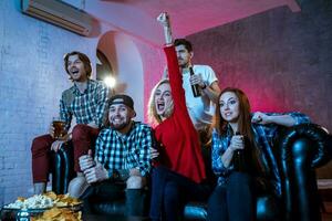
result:
M 286 113 L 292 116 L 295 120 L 295 125 L 310 123 L 308 116 L 301 113 Z M 269 113 L 267 115 L 281 115 L 276 113 Z M 277 136 L 278 128 L 280 126 L 276 124 L 269 125 L 260 125 L 252 124 L 251 128 L 255 136 L 255 143 L 258 148 L 260 148 L 262 152 L 262 160 L 268 164 L 268 167 L 271 171 L 271 185 L 273 186 L 273 192 L 277 196 L 281 194 L 281 182 L 280 182 L 280 173 L 278 170 L 276 157 L 273 155 L 273 139 Z M 230 145 L 230 140 L 232 137 L 232 130 L 230 126 L 225 135 L 218 134 L 217 130 L 212 131 L 212 170 L 218 176 L 218 185 L 222 186 L 227 183 L 229 173 L 234 170 L 232 165 L 228 168 L 224 167 L 221 161 L 221 155 L 226 151 L 228 146 Z

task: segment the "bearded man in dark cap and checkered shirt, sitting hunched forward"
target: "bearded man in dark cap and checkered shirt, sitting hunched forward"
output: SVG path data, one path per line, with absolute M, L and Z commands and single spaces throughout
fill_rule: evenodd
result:
M 95 159 L 91 152 L 80 158 L 84 177 L 74 178 L 69 187 L 73 197 L 83 192 L 85 212 L 91 212 L 91 198 L 110 201 L 126 197 L 126 213 L 143 215 L 153 135 L 148 125 L 132 120 L 135 116 L 129 96 L 111 97 L 107 127 L 96 139 Z

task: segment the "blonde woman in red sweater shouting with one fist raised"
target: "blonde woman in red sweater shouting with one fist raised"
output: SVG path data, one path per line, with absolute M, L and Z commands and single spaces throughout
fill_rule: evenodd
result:
M 167 13 L 158 21 L 164 27 L 169 80 L 162 80 L 149 98 L 149 119 L 156 124 L 158 156 L 152 176 L 152 220 L 178 220 L 184 204 L 190 200 L 206 200 L 211 187 L 205 182 L 206 171 L 198 134 L 190 120 L 183 88 L 177 55 L 173 45 Z

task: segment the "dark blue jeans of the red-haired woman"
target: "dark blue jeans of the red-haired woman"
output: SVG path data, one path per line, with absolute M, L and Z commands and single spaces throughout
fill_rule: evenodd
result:
M 208 201 L 209 221 L 250 221 L 256 217 L 252 178 L 231 172 L 226 186 L 218 186 Z

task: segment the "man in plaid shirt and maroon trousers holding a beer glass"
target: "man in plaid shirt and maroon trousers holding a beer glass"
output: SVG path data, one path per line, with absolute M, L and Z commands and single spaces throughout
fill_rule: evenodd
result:
M 45 191 L 49 172 L 52 168 L 51 150 L 58 151 L 62 144 L 69 140 L 72 140 L 74 146 L 75 171 L 83 176 L 80 170 L 79 157 L 86 155 L 87 150 L 94 146 L 105 113 L 108 90 L 103 84 L 90 80 L 92 67 L 89 57 L 81 52 L 68 53 L 64 56 L 64 67 L 74 85 L 62 93 L 60 119 L 65 123 L 66 131 L 73 116 L 77 125 L 71 134 L 55 138 L 54 127 L 51 124 L 50 134 L 33 139 L 31 151 L 35 194 Z

